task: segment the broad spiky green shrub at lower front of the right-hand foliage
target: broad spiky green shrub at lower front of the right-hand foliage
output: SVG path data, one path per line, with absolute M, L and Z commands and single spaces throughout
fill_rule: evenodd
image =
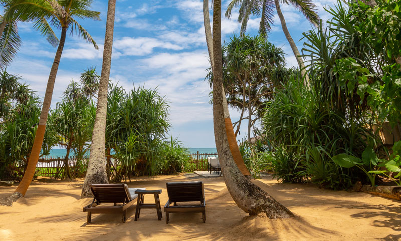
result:
M 349 110 L 332 109 L 319 91 L 291 78 L 277 90 L 263 119 L 272 144 L 274 176 L 284 182 L 312 181 L 333 189 L 364 181 L 360 170 L 342 169 L 331 157 L 344 152 L 361 154 L 367 143 L 375 143 L 367 114 L 355 116 Z

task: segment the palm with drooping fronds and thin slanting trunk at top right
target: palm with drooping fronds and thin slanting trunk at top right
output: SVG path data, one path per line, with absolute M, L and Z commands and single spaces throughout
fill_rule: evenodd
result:
M 312 2 L 312 0 L 285 0 L 283 1 L 283 3 L 292 4 L 295 8 L 302 12 L 302 14 L 310 23 L 312 23 L 316 27 L 318 26 L 319 15 L 316 11 L 316 5 Z M 264 35 L 267 35 L 267 33 L 269 33 L 271 30 L 270 24 L 273 23 L 273 9 L 276 8 L 284 35 L 287 38 L 288 43 L 290 44 L 295 58 L 297 58 L 298 65 L 301 69 L 301 75 L 305 78 L 305 85 L 309 86 L 309 77 L 306 74 L 304 61 L 302 60 L 302 57 L 300 56 L 301 54 L 294 40 L 292 39 L 290 32 L 288 31 L 283 13 L 281 12 L 279 0 L 232 0 L 231 3 L 228 5 L 225 14 L 227 18 L 230 18 L 232 9 L 237 6 L 240 6 L 240 15 L 238 16 L 238 22 L 242 23 L 241 32 L 244 33 L 246 31 L 248 19 L 251 14 L 261 15 L 259 33 Z

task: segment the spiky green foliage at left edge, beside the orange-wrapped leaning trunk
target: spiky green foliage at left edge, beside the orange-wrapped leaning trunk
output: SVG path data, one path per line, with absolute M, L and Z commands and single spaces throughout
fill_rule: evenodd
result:
M 0 73 L 0 176 L 16 178 L 24 173 L 29 161 L 40 115 L 40 100 L 20 77 Z M 47 133 L 42 155 L 49 153 L 57 140 Z M 15 169 L 15 166 L 22 169 Z M 19 171 L 19 172 L 17 172 Z

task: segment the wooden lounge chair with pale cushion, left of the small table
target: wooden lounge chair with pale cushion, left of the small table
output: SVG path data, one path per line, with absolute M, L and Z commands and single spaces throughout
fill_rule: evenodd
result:
M 84 207 L 84 212 L 88 212 L 88 223 L 91 223 L 92 213 L 122 213 L 122 222 L 125 222 L 127 208 L 132 206 L 138 197 L 138 194 L 135 194 L 137 189 L 145 190 L 145 188 L 128 188 L 126 184 L 91 185 L 95 197 L 90 205 Z M 101 203 L 114 203 L 114 206 L 98 206 Z

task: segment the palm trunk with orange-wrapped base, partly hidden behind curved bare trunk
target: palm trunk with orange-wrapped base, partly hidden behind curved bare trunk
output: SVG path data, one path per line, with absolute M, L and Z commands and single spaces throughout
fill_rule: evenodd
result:
M 210 28 L 210 19 L 209 19 L 209 0 L 204 0 L 204 26 L 205 26 L 205 36 L 206 36 L 206 44 L 208 46 L 208 52 L 209 52 L 209 58 L 210 58 L 210 63 L 212 66 L 212 72 L 213 72 L 213 38 L 212 38 L 212 30 Z M 223 86 L 223 84 L 222 84 Z M 244 160 L 242 159 L 240 150 L 238 149 L 237 145 L 237 134 L 234 134 L 234 129 L 233 129 L 233 123 L 231 122 L 230 119 L 230 112 L 229 112 L 229 107 L 227 105 L 227 99 L 226 99 L 226 94 L 224 93 L 224 88 L 222 87 L 222 97 L 223 97 L 223 105 L 224 105 L 224 121 L 226 125 L 226 133 L 227 136 L 229 136 L 229 146 L 231 153 L 235 153 L 234 155 L 234 161 L 237 165 L 237 167 L 240 169 L 241 173 L 245 176 L 250 176 L 251 173 L 249 173 L 247 167 L 244 164 Z M 240 117 L 240 123 L 241 124 L 241 119 L 242 119 L 242 114 Z

